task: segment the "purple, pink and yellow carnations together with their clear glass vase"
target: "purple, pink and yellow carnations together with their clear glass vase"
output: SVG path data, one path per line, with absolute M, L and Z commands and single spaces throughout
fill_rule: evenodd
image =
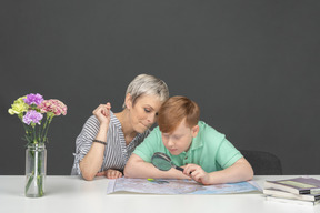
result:
M 48 142 L 49 125 L 54 116 L 67 114 L 67 105 L 57 99 L 44 100 L 41 94 L 30 93 L 17 99 L 8 112 L 18 115 L 26 132 L 24 194 L 31 197 L 42 196 L 47 165 L 44 143 Z

